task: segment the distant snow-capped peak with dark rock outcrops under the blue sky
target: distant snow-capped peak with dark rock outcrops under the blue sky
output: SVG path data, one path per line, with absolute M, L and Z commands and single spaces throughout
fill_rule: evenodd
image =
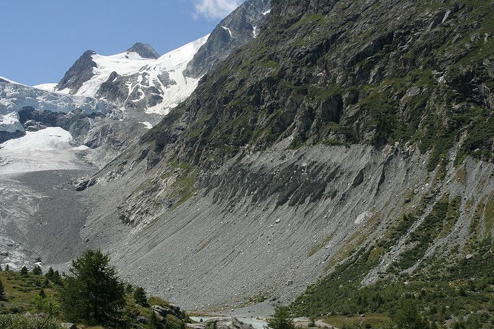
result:
M 56 90 L 105 99 L 124 108 L 167 114 L 196 88 L 199 79 L 185 77 L 183 71 L 208 37 L 163 56 L 142 43 L 112 56 L 86 51 L 67 71 Z

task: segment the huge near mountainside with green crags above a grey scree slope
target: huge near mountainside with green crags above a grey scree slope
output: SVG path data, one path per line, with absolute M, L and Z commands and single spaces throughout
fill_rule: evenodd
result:
M 99 174 L 95 193 L 133 191 L 95 210 L 133 228 L 119 265 L 186 306 L 290 300 L 323 276 L 297 314 L 388 317 L 414 296 L 431 323 L 486 321 L 493 9 L 272 1 L 259 36 Z

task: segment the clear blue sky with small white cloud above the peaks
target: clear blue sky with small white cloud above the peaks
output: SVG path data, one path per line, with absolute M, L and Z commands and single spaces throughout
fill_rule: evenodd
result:
M 135 42 L 166 53 L 212 31 L 243 0 L 0 0 L 0 75 L 58 82 L 88 49 L 121 53 Z

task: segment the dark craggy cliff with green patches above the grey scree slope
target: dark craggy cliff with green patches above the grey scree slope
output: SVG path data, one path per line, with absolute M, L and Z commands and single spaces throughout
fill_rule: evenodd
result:
M 462 153 L 489 159 L 492 9 L 489 1 L 275 1 L 268 33 L 176 110 L 187 126 L 180 156 L 217 166 L 283 138 L 292 147 L 397 142 L 432 150 L 434 169 L 462 137 Z M 166 126 L 154 132 L 156 145 L 166 142 L 158 136 Z

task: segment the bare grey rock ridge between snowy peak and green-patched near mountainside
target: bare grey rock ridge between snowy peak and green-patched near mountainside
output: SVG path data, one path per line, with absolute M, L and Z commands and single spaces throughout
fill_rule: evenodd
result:
M 257 37 L 269 14 L 270 0 L 248 0 L 215 27 L 187 65 L 185 75 L 201 77 L 236 49 Z

